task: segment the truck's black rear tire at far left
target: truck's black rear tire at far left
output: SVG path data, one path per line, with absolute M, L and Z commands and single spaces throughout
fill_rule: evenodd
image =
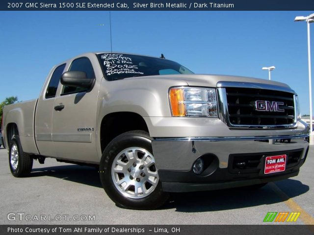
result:
M 14 156 L 11 156 L 11 154 L 16 148 L 18 161 L 16 165 L 13 165 L 11 160 Z M 33 166 L 33 159 L 23 151 L 21 141 L 18 136 L 13 137 L 9 145 L 9 166 L 14 177 L 28 176 Z

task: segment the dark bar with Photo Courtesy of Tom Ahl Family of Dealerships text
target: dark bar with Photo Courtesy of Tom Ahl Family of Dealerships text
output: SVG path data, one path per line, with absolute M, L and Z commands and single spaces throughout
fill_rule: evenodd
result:
M 313 235 L 314 225 L 0 225 L 1 235 Z

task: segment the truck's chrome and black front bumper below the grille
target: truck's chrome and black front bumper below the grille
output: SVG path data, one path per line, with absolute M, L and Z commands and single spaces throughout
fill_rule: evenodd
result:
M 163 138 L 152 142 L 164 191 L 200 191 L 267 183 L 298 175 L 305 162 L 308 135 L 228 138 Z M 287 154 L 286 170 L 264 174 L 265 156 Z M 196 175 L 192 165 L 205 163 Z M 237 166 L 238 162 L 246 166 Z

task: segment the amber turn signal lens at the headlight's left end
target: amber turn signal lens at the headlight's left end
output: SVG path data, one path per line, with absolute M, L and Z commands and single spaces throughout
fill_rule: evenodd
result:
M 169 93 L 172 115 L 176 117 L 185 116 L 184 92 L 181 88 L 172 88 Z

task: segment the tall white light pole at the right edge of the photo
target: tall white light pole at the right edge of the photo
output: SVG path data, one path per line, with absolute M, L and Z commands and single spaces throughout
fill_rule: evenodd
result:
M 308 62 L 309 62 L 309 95 L 310 95 L 310 144 L 314 144 L 313 136 L 313 113 L 312 113 L 312 75 L 311 75 L 311 46 L 310 46 L 310 24 L 314 22 L 314 13 L 309 16 L 297 16 L 295 22 L 306 21 L 308 25 Z

